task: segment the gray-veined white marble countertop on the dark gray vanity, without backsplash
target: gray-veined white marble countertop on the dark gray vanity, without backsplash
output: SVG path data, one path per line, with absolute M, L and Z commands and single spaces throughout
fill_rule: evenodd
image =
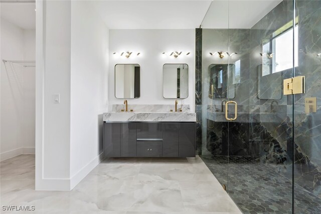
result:
M 112 111 L 103 114 L 105 122 L 157 121 L 157 122 L 195 122 L 196 113 L 171 111 Z

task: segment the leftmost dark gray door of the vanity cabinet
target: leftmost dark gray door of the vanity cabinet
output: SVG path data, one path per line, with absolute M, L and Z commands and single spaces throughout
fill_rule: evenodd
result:
M 104 151 L 105 157 L 120 156 L 120 124 L 104 123 Z

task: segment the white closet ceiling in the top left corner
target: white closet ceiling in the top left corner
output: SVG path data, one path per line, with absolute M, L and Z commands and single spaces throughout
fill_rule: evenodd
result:
M 1 3 L 1 19 L 25 29 L 36 29 L 35 3 Z

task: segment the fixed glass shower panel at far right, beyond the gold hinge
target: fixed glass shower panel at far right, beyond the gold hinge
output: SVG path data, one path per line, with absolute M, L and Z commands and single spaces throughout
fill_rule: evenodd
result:
M 305 76 L 305 93 L 293 97 L 293 209 L 321 213 L 321 1 L 295 0 L 295 12 L 294 77 Z

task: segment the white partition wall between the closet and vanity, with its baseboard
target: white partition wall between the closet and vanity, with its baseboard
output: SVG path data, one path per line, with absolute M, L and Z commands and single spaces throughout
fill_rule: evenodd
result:
M 69 190 L 103 151 L 108 29 L 83 1 L 36 6 L 36 189 Z

